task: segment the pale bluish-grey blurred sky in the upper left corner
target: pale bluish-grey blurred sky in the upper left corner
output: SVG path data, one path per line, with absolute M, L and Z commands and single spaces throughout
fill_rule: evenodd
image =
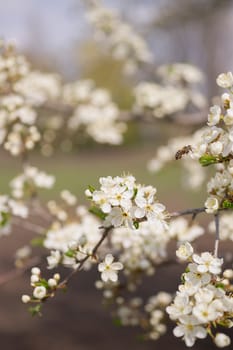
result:
M 83 35 L 79 6 L 74 0 L 0 1 L 0 34 L 40 55 L 58 53 Z

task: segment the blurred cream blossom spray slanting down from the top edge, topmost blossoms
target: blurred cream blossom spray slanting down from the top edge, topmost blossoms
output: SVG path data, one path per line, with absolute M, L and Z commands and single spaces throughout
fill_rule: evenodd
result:
M 123 22 L 116 10 L 91 2 L 87 19 L 96 30 L 96 37 L 107 44 L 113 58 L 124 62 L 124 71 L 134 73 L 142 63 L 149 63 L 152 55 L 144 39 Z

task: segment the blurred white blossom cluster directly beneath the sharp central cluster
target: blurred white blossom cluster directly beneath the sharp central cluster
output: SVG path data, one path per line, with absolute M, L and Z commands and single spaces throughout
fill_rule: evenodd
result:
M 153 275 L 156 267 L 167 258 L 170 241 L 168 232 L 153 221 L 140 223 L 137 230 L 130 227 L 113 230 L 112 244 L 124 264 L 123 272 L 128 278 L 128 289 L 135 289 L 142 275 Z

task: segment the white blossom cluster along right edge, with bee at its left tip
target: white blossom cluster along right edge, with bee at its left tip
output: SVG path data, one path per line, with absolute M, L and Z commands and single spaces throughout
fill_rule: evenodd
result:
M 216 164 L 217 173 L 207 185 L 208 198 L 205 202 L 206 212 L 214 214 L 219 208 L 228 207 L 232 203 L 233 193 L 233 96 L 232 73 L 220 74 L 217 84 L 227 88 L 228 93 L 221 96 L 222 106 L 214 105 L 208 114 L 208 127 L 199 130 L 189 146 L 177 152 L 177 159 L 187 155 L 191 159 L 198 159 L 201 165 Z M 162 152 L 162 155 L 166 155 Z M 158 157 L 157 157 L 158 158 Z M 162 158 L 160 156 L 160 158 Z M 163 164 L 163 160 L 162 160 Z M 158 159 L 151 163 L 151 167 L 159 168 Z

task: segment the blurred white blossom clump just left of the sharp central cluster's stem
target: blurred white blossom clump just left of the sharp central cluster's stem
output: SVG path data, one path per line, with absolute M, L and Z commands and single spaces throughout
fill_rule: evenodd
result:
M 93 249 L 101 238 L 100 221 L 83 206 L 75 208 L 74 216 L 58 207 L 57 210 L 54 212 L 56 220 L 43 241 L 44 247 L 50 250 L 48 268 L 62 264 L 76 269 L 83 259 L 92 257 Z M 93 262 L 95 259 L 89 259 L 84 269 L 89 269 Z

